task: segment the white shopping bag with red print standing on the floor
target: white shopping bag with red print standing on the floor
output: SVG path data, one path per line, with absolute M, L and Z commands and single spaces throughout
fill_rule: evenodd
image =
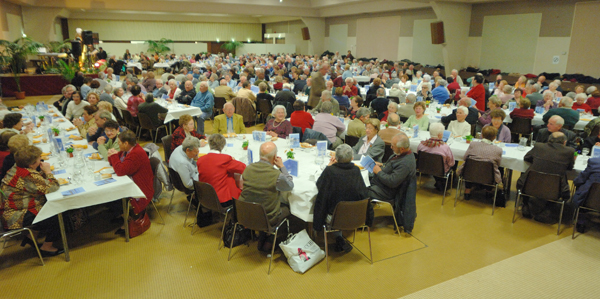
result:
M 305 229 L 281 242 L 279 247 L 292 270 L 298 273 L 306 272 L 325 257 L 325 251 L 310 239 Z

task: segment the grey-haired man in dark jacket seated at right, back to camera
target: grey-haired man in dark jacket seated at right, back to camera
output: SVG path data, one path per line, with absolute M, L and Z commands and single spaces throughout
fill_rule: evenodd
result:
M 573 148 L 566 146 L 567 137 L 562 132 L 554 132 L 548 138 L 548 143 L 536 143 L 523 160 L 531 163 L 525 173 L 517 181 L 517 189 L 523 188 L 525 180 L 532 170 L 557 174 L 561 176 L 561 196 L 563 200 L 571 197 L 569 184 L 567 182 L 567 171 L 573 169 L 575 164 Z M 543 188 L 544 186 L 537 186 Z M 523 217 L 534 218 L 543 223 L 556 223 L 560 209 L 555 203 L 544 200 L 523 198 Z

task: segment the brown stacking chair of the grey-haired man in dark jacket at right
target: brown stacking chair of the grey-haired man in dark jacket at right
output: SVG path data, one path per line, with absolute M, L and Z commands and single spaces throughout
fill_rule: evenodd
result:
M 515 223 L 515 215 L 517 209 L 521 205 L 521 196 L 535 197 L 560 204 L 560 215 L 558 218 L 558 230 L 556 234 L 560 234 L 560 224 L 562 222 L 562 214 L 565 208 L 565 201 L 561 197 L 561 177 L 557 174 L 543 173 L 535 170 L 530 170 L 525 178 L 523 188 L 517 190 L 517 202 L 515 202 L 515 211 L 513 212 L 513 223 Z

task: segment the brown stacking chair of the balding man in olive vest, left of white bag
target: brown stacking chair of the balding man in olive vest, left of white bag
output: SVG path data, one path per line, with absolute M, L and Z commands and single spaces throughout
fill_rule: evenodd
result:
M 267 274 L 271 274 L 271 263 L 273 263 L 275 245 L 277 244 L 277 233 L 279 232 L 279 228 L 281 228 L 281 226 L 284 223 L 287 223 L 288 232 L 290 231 L 289 220 L 285 218 L 279 224 L 277 224 L 277 226 L 271 226 L 265 208 L 261 204 L 254 202 L 236 200 L 235 210 L 237 222 L 233 226 L 233 236 L 231 236 L 232 241 L 229 244 L 229 256 L 227 257 L 227 261 L 231 259 L 231 248 L 233 247 L 233 240 L 235 240 L 235 231 L 238 225 L 244 226 L 245 228 L 250 230 L 262 231 L 269 235 L 275 235 L 275 238 L 273 240 L 273 247 L 271 248 L 271 260 L 269 261 L 269 270 L 267 272 Z

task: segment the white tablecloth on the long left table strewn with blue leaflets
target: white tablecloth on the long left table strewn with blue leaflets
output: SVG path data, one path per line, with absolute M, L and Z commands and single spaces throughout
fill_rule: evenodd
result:
M 55 112 L 60 115 L 60 112 L 56 112 L 56 109 L 53 109 Z M 63 118 L 64 119 L 64 118 Z M 79 135 L 77 129 L 67 132 L 66 129 L 73 127 L 73 125 L 65 119 L 64 122 L 57 122 L 57 119 L 53 120 L 53 124 L 57 125 L 61 130 L 61 137 L 69 136 L 69 135 Z M 33 137 L 34 134 L 29 134 L 30 137 Z M 41 137 L 32 138 L 33 140 L 42 140 Z M 66 138 L 65 138 L 66 139 Z M 73 142 L 74 144 L 87 144 L 85 138 L 79 141 L 67 140 L 67 142 Z M 50 144 L 49 143 L 38 143 L 43 152 L 50 152 Z M 95 153 L 97 152 L 91 145 L 88 145 L 88 148 L 83 150 L 83 154 L 87 153 Z M 67 163 L 66 169 L 67 172 L 64 174 L 56 175 L 57 178 L 73 178 L 73 158 L 70 158 Z M 54 171 L 60 170 L 60 166 L 58 164 L 57 157 L 51 157 L 46 162 L 49 162 L 54 166 Z M 95 170 L 98 170 L 105 166 L 110 166 L 108 162 L 105 161 L 96 161 L 94 163 Z M 113 178 L 116 180 L 114 183 L 106 184 L 103 186 L 96 186 L 94 184 L 94 179 L 91 175 L 89 175 L 89 171 L 84 169 L 85 177 L 83 178 L 83 183 L 77 184 L 71 179 L 72 183 L 63 185 L 58 189 L 58 191 L 52 192 L 46 195 L 46 199 L 48 200 L 46 204 L 42 207 L 37 217 L 33 221 L 33 223 L 37 223 L 44 219 L 50 218 L 59 213 L 78 209 L 83 207 L 89 207 L 101 203 L 106 203 L 110 201 L 114 201 L 123 197 L 145 197 L 144 193 L 140 188 L 127 176 L 117 177 L 113 174 Z M 63 196 L 62 191 L 72 190 L 78 187 L 83 187 L 85 192 L 79 193 L 71 196 Z

